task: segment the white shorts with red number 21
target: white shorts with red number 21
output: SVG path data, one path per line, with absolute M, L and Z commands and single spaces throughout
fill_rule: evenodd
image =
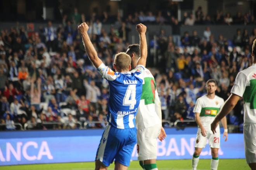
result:
M 210 129 L 206 129 L 206 136 L 202 136 L 201 129 L 198 128 L 197 136 L 195 139 L 195 148 L 205 148 L 207 141 L 211 148 L 220 148 L 220 131 L 217 130 L 217 133 L 213 134 Z

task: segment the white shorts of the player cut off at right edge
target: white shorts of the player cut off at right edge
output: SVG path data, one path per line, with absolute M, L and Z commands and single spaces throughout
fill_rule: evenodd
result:
M 244 125 L 244 150 L 247 163 L 256 163 L 256 124 Z

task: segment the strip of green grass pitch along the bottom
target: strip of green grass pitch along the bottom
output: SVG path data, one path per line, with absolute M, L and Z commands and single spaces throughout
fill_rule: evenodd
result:
M 197 170 L 210 170 L 211 160 L 199 160 Z M 157 160 L 159 170 L 191 170 L 191 160 Z M 113 170 L 114 165 L 109 167 Z M 220 159 L 218 170 L 249 170 L 244 159 Z M 0 170 L 94 170 L 94 162 L 0 166 Z M 132 161 L 128 170 L 142 170 Z

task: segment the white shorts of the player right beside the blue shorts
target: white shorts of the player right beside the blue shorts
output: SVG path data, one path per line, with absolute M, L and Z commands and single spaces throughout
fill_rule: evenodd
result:
M 156 159 L 157 137 L 160 130 L 161 124 L 137 130 L 137 152 L 139 161 Z

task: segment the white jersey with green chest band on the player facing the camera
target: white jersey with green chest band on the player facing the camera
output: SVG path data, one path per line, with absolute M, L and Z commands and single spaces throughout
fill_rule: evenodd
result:
M 223 104 L 224 100 L 217 95 L 215 95 L 214 99 L 209 99 L 206 95 L 203 95 L 196 100 L 193 112 L 200 113 L 202 126 L 206 129 L 211 129 L 211 123 L 214 121 Z

